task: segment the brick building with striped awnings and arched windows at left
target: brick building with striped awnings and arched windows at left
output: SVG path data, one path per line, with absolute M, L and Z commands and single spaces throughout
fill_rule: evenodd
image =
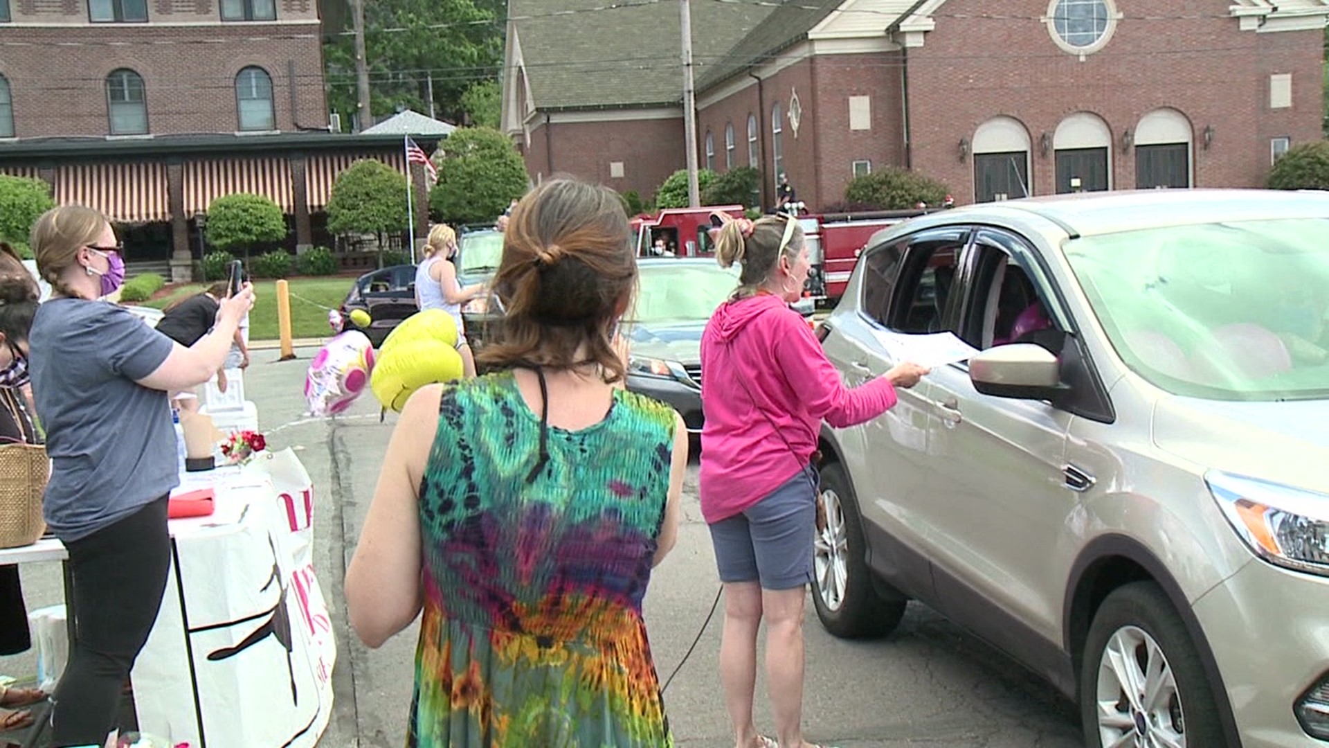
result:
M 400 134 L 332 132 L 322 36 L 314 0 L 0 0 L 0 173 L 102 210 L 175 280 L 233 192 L 276 201 L 291 249 L 330 244 L 336 174 L 405 158 Z

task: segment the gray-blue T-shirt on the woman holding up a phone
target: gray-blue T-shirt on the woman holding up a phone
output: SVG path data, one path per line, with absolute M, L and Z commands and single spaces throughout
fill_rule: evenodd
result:
M 134 382 L 166 361 L 170 338 L 113 303 L 53 298 L 37 307 L 29 341 L 57 538 L 78 540 L 179 484 L 170 401 Z

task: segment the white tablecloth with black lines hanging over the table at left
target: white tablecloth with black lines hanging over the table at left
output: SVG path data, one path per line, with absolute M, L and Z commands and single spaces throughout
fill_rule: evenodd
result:
M 312 748 L 332 715 L 336 663 L 314 574 L 312 487 L 253 467 L 183 479 L 177 494 L 211 486 L 215 511 L 170 520 L 166 594 L 130 676 L 140 729 L 190 748 Z M 0 551 L 0 564 L 62 558 L 58 540 Z

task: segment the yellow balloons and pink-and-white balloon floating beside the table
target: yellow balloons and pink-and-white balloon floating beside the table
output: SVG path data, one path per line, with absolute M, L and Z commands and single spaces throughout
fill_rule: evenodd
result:
M 356 326 L 368 327 L 368 314 L 365 319 L 355 319 L 354 314 Z M 397 325 L 377 355 L 360 330 L 340 333 L 310 362 L 304 378 L 310 413 L 335 415 L 344 411 L 367 383 L 384 410 L 401 413 L 407 399 L 420 387 L 461 378 L 464 366 L 456 345 L 457 325 L 451 314 L 439 309 L 419 311 Z

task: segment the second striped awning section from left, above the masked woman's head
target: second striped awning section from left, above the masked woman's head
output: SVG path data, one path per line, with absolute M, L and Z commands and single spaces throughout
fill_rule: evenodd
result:
M 54 198 L 60 205 L 86 205 L 112 221 L 169 221 L 166 165 L 65 164 L 56 166 Z

